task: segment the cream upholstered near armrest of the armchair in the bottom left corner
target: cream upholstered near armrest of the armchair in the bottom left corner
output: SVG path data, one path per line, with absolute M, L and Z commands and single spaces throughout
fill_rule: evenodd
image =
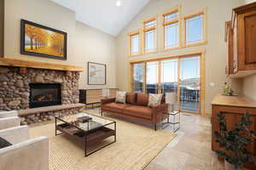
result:
M 39 137 L 28 139 L 0 150 L 0 169 L 48 170 L 49 139 Z

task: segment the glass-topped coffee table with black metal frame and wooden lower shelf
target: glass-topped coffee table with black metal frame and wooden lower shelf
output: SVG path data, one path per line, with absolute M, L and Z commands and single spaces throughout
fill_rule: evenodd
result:
M 64 117 L 55 116 L 55 135 L 60 135 L 60 132 L 71 135 L 74 139 L 83 140 L 84 156 L 90 156 L 116 142 L 116 122 L 84 112 Z M 96 144 L 110 137 L 113 137 L 112 142 L 88 153 L 89 144 Z

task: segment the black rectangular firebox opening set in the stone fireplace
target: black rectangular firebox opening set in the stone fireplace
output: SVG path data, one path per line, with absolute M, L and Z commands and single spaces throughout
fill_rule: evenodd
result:
M 30 83 L 29 107 L 44 107 L 61 105 L 61 84 L 59 83 Z

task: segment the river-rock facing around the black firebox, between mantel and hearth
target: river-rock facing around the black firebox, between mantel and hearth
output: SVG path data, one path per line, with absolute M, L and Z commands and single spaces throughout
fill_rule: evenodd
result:
M 0 67 L 0 111 L 29 108 L 29 83 L 61 83 L 61 102 L 79 103 L 79 72 Z

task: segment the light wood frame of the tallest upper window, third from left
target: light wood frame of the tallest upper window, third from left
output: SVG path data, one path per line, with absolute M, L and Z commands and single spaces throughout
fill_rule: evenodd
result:
M 177 19 L 165 21 L 165 17 L 168 14 L 175 14 L 177 13 Z M 161 50 L 168 51 L 171 49 L 182 48 L 182 26 L 181 26 L 181 5 L 178 5 L 175 8 L 171 8 L 167 10 L 165 13 L 161 14 Z M 170 26 L 172 24 L 177 23 L 177 46 L 166 48 L 166 26 Z

